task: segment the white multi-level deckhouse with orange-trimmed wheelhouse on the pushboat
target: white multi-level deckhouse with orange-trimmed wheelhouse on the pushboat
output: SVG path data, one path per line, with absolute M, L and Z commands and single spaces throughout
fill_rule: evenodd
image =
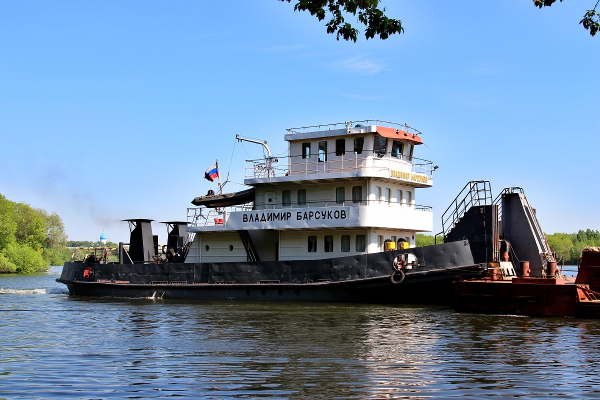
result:
M 433 230 L 431 208 L 416 204 L 434 170 L 415 157 L 419 131 L 360 121 L 292 128 L 285 140 L 287 157 L 246 162 L 253 201 L 188 209 L 195 235 L 185 262 L 370 254 L 414 247 L 416 233 Z

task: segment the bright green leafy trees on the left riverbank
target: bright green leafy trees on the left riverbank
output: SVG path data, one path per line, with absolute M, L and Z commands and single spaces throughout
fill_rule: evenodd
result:
M 56 212 L 48 213 L 0 194 L 0 272 L 38 272 L 62 265 L 67 234 Z

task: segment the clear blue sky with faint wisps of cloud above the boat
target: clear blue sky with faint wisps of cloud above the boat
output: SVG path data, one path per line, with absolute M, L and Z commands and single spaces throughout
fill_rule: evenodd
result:
M 281 153 L 286 128 L 382 119 L 440 167 L 416 193 L 436 232 L 473 179 L 523 187 L 547 233 L 600 229 L 592 3 L 383 2 L 406 32 L 347 43 L 275 0 L 0 0 L 0 193 L 127 242 L 119 219 L 185 220 L 236 134 Z M 259 157 L 236 145 L 230 180 Z

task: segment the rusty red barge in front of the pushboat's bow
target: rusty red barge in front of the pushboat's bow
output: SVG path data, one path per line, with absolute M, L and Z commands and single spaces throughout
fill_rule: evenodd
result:
M 577 278 L 557 276 L 498 280 L 496 276 L 455 282 L 459 312 L 531 317 L 600 318 L 600 249 L 586 248 Z M 502 278 L 500 278 L 502 279 Z

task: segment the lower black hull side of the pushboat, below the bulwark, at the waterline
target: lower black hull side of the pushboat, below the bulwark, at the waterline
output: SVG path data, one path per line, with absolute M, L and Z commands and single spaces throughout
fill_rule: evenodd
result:
M 452 282 L 458 276 L 482 275 L 484 267 L 465 266 L 434 270 L 427 275 L 407 273 L 400 284 L 390 276 L 355 281 L 313 284 L 151 284 L 66 281 L 70 294 L 78 296 L 155 297 L 161 299 L 248 300 L 287 302 L 356 302 L 450 304 Z

